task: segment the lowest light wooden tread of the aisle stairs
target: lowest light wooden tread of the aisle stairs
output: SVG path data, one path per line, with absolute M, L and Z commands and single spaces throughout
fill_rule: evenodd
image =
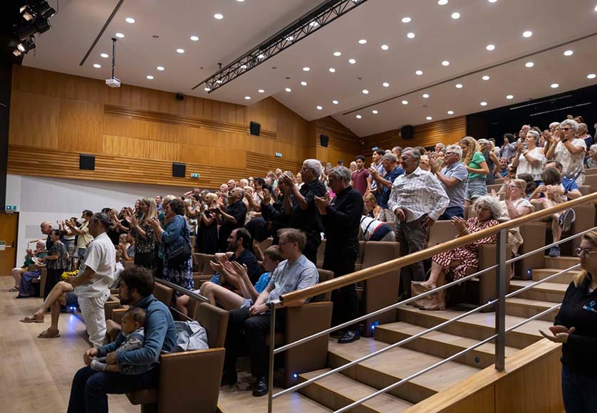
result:
M 308 380 L 330 370 L 331 369 L 322 369 L 314 372 L 302 373 L 299 376 Z M 346 377 L 341 373 L 335 373 L 333 375 L 323 377 L 323 379 L 317 380 L 316 384 L 320 385 L 321 387 L 325 387 L 331 392 L 341 394 L 341 396 L 346 397 L 347 399 L 351 400 L 351 402 L 355 402 L 377 391 L 377 389 L 363 385 L 362 383 L 352 380 L 350 377 Z M 403 399 L 399 399 L 398 397 L 394 397 L 391 394 L 382 393 L 376 397 L 373 397 L 373 399 L 363 402 L 363 406 L 370 407 L 378 412 L 400 412 L 401 410 L 411 407 L 412 403 Z

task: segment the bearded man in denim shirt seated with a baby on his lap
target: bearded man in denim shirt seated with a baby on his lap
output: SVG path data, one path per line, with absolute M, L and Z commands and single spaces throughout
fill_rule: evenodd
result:
M 153 295 L 151 271 L 140 266 L 123 271 L 120 284 L 120 302 L 145 310 L 145 342 L 138 350 L 116 352 L 118 343 L 100 345 L 83 355 L 89 366 L 93 357 L 105 357 L 108 364 L 151 365 L 150 370 L 134 377 L 115 372 L 97 372 L 83 367 L 76 372 L 71 386 L 68 413 L 108 412 L 108 394 L 123 394 L 158 385 L 158 363 L 162 353 L 176 344 L 176 329 L 172 314 L 166 305 Z

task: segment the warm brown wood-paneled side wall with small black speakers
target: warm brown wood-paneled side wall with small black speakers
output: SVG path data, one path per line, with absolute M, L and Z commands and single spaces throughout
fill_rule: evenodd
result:
M 249 134 L 249 122 L 261 136 Z M 14 66 L 9 173 L 216 188 L 229 178 L 298 172 L 309 124 L 274 98 L 251 106 Z M 282 158 L 274 154 L 281 152 Z M 95 171 L 78 169 L 80 153 Z M 187 164 L 172 177 L 172 162 Z M 197 172 L 199 179 L 191 179 Z

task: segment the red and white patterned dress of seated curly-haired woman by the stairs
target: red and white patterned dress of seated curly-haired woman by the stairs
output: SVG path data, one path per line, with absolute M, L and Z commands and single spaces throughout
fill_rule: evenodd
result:
M 473 232 L 479 232 L 497 224 L 499 222 L 495 219 L 481 222 L 475 216 L 474 218 L 467 219 L 467 230 L 472 234 Z M 477 268 L 479 266 L 479 245 L 495 244 L 496 239 L 497 234 L 494 234 L 487 238 L 479 239 L 479 241 L 474 241 L 471 244 L 452 249 L 452 251 L 439 253 L 432 259 L 442 266 L 446 280 L 460 280 L 460 278 L 464 278 L 467 275 L 469 268 Z M 460 264 L 455 267 L 450 266 L 456 260 L 460 260 Z

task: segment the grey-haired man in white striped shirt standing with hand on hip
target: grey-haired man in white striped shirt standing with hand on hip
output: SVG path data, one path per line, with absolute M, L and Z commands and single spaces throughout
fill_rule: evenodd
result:
M 395 179 L 388 208 L 396 215 L 396 241 L 400 256 L 425 249 L 429 227 L 444 213 L 450 199 L 444 187 L 431 172 L 420 169 L 420 153 L 407 148 L 400 160 L 405 174 Z M 410 282 L 425 281 L 422 261 L 400 269 L 404 292 L 400 299 L 410 297 Z

